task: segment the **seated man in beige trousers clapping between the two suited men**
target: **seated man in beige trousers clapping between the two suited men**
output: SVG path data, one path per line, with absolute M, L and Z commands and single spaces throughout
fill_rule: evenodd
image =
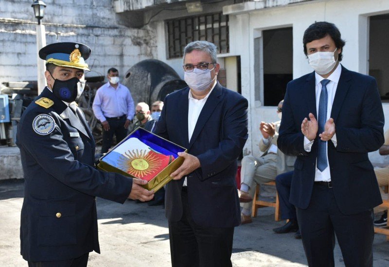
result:
M 282 117 L 283 100 L 277 107 L 278 116 Z M 259 149 L 264 152 L 261 157 L 248 155 L 242 159 L 241 187 L 238 191 L 239 201 L 242 202 L 242 224 L 250 223 L 252 198 L 256 184 L 265 184 L 276 179 L 278 174 L 293 170 L 295 157 L 286 156 L 277 148 L 278 129 L 281 120 L 274 123 L 261 122 L 259 130 L 263 138 Z

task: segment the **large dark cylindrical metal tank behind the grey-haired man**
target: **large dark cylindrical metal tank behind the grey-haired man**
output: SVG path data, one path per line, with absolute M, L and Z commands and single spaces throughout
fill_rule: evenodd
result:
M 123 84 L 130 89 L 135 105 L 163 101 L 167 94 L 187 86 L 172 67 L 157 59 L 142 60 L 130 67 Z

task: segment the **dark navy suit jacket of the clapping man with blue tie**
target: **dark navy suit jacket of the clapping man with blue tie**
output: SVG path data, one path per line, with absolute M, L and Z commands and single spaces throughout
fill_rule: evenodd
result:
M 311 200 L 318 155 L 318 135 L 310 152 L 303 146 L 301 122 L 310 112 L 317 118 L 315 72 L 288 83 L 278 137 L 278 147 L 297 156 L 290 202 L 301 209 Z M 346 215 L 371 209 L 382 200 L 368 152 L 384 143 L 384 114 L 375 79 L 342 66 L 331 117 L 337 146 L 332 141 L 327 146 L 336 203 Z

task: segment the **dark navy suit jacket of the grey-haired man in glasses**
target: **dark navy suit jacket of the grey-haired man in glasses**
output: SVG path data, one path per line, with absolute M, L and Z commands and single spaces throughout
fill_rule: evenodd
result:
M 201 167 L 187 175 L 188 202 L 196 224 L 233 227 L 240 224 L 235 181 L 237 158 L 248 137 L 247 100 L 222 87 L 213 88 L 188 140 L 189 87 L 164 100 L 156 134 L 188 149 Z M 182 217 L 181 188 L 184 178 L 166 185 L 165 209 L 169 221 Z

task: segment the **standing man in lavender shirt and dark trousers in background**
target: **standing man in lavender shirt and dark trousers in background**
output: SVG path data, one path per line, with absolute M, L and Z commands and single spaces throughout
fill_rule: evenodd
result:
M 92 105 L 94 115 L 103 125 L 101 153 L 111 148 L 113 134 L 117 142 L 124 139 L 135 113 L 130 90 L 119 83 L 119 71 L 111 67 L 107 78 L 108 83 L 97 90 Z

